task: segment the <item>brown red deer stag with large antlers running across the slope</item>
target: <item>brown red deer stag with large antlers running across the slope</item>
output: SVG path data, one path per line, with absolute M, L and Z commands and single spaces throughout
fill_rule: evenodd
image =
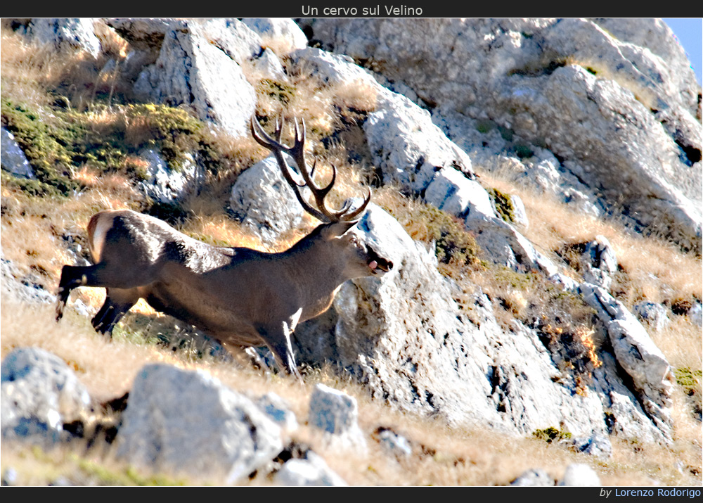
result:
M 117 321 L 144 298 L 155 310 L 192 324 L 232 352 L 238 346 L 268 346 L 278 367 L 299 378 L 290 340 L 295 326 L 327 310 L 345 281 L 385 274 L 393 264 L 349 232 L 370 191 L 356 210 L 349 202 L 330 210 L 325 196 L 335 184 L 335 168 L 329 184 L 316 186 L 315 164 L 308 170 L 305 162 L 304 122 L 301 130 L 295 120 L 292 147 L 280 143 L 282 128 L 277 121 L 273 139 L 251 120 L 254 139 L 273 152 L 299 203 L 323 224 L 288 250 L 264 253 L 210 246 L 131 210 L 98 212 L 88 224 L 95 265 L 63 267 L 57 321 L 73 288 L 102 286 L 105 303 L 91 321 L 98 332 L 111 335 Z M 283 153 L 295 160 L 304 183 L 292 177 Z M 317 208 L 300 193 L 305 186 Z

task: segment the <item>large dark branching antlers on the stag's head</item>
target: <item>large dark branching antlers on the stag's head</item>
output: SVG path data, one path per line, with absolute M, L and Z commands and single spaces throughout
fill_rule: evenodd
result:
M 295 124 L 295 143 L 292 147 L 285 146 L 280 143 L 280 134 L 283 130 L 283 120 L 279 122 L 278 119 L 276 119 L 276 132 L 273 134 L 276 139 L 273 139 L 271 136 L 266 134 L 262 125 L 260 125 L 252 115 L 252 136 L 254 136 L 254 139 L 259 143 L 259 145 L 264 146 L 273 152 L 273 155 L 276 157 L 276 161 L 278 162 L 278 167 L 280 167 L 280 171 L 283 173 L 285 181 L 288 182 L 290 188 L 293 189 L 295 197 L 305 211 L 309 212 L 310 215 L 314 216 L 316 219 L 321 220 L 321 222 L 350 222 L 354 220 L 357 216 L 361 215 L 361 212 L 366 209 L 366 205 L 368 205 L 368 202 L 371 200 L 370 189 L 368 189 L 368 195 L 366 196 L 366 199 L 364 199 L 361 206 L 354 211 L 349 211 L 352 206 L 351 201 L 347 201 L 347 203 L 345 203 L 339 210 L 330 210 L 327 208 L 327 205 L 325 204 L 325 196 L 327 196 L 335 184 L 335 180 L 337 179 L 337 168 L 334 165 L 332 166 L 332 179 L 330 180 L 330 183 L 324 187 L 316 186 L 312 178 L 317 161 L 313 163 L 310 171 L 308 171 L 307 163 L 305 161 L 305 121 L 300 121 L 302 123 L 302 127 L 298 127 L 297 119 L 294 119 L 293 122 Z M 300 171 L 300 175 L 303 177 L 303 184 L 299 184 L 291 176 L 288 171 L 290 168 L 283 159 L 283 152 L 287 153 L 295 160 L 298 170 Z M 307 186 L 307 188 L 312 192 L 312 195 L 315 198 L 315 203 L 319 209 L 313 208 L 303 198 L 300 193 L 300 189 L 304 186 Z

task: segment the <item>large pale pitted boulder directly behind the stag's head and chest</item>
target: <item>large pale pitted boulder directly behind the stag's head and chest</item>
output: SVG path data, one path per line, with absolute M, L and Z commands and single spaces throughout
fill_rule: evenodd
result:
M 591 385 L 578 390 L 534 330 L 517 321 L 503 328 L 485 295 L 461 292 L 441 276 L 436 257 L 386 212 L 370 204 L 356 232 L 397 266 L 382 279 L 342 285 L 333 310 L 296 330 L 299 359 L 327 359 L 373 396 L 449 424 L 514 434 L 563 425 L 589 438 L 616 431 L 664 438 L 610 353 L 603 353 Z M 605 410 L 619 429 L 607 424 Z

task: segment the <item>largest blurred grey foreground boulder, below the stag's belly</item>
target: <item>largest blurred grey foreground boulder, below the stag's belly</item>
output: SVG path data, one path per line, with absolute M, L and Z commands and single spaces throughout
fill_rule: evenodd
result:
M 136 376 L 117 456 L 232 483 L 280 452 L 280 427 L 247 397 L 200 371 L 150 364 Z

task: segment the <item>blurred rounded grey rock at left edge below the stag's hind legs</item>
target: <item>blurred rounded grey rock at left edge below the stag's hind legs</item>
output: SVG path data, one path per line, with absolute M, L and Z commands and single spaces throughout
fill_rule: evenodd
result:
M 63 423 L 77 419 L 91 404 L 72 369 L 40 348 L 19 348 L 7 355 L 0 382 L 4 438 L 67 440 Z

